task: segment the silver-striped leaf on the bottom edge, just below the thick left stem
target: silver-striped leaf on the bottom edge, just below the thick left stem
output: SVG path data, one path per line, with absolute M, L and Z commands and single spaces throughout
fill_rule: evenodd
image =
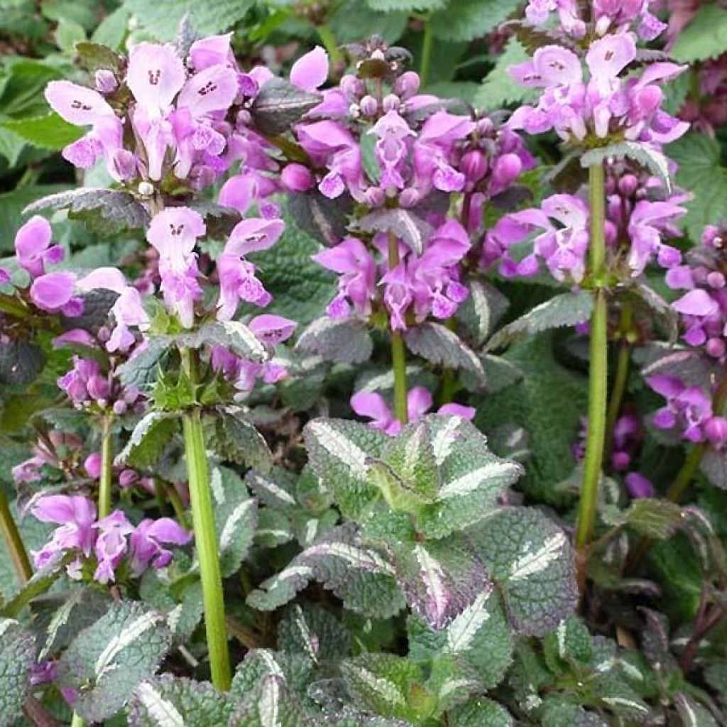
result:
M 137 686 L 129 727 L 218 727 L 228 723 L 235 706 L 212 684 L 162 674 Z

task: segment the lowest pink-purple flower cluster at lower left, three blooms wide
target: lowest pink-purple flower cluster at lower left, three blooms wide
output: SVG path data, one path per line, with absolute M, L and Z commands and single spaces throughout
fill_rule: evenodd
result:
M 173 555 L 165 546 L 185 545 L 191 539 L 170 518 L 146 519 L 133 526 L 121 510 L 116 510 L 97 520 L 96 506 L 81 495 L 39 497 L 31 504 L 31 513 L 41 522 L 58 526 L 49 542 L 33 553 L 36 568 L 73 553 L 76 558 L 66 567 L 68 575 L 80 579 L 88 565 L 99 583 L 113 582 L 122 563 L 132 577 L 150 566 L 164 568 Z

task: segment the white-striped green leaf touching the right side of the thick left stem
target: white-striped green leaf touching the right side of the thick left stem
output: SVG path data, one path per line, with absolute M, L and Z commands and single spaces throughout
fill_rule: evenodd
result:
M 250 497 L 245 483 L 227 467 L 212 473 L 214 526 L 220 543 L 220 570 L 223 577 L 236 573 L 247 557 L 257 526 L 257 501 Z

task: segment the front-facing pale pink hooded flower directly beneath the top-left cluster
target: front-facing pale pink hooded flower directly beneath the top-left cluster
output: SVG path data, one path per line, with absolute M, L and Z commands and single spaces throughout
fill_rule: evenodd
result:
M 201 215 L 188 207 L 168 207 L 156 214 L 146 233 L 159 253 L 159 275 L 164 303 L 179 316 L 182 326 L 194 322 L 194 302 L 202 297 L 198 284 L 198 237 L 206 232 Z

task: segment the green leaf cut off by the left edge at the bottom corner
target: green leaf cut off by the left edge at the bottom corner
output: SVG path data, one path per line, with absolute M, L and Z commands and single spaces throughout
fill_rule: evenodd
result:
M 35 662 L 35 642 L 17 621 L 0 619 L 0 727 L 12 727 L 23 715 Z

